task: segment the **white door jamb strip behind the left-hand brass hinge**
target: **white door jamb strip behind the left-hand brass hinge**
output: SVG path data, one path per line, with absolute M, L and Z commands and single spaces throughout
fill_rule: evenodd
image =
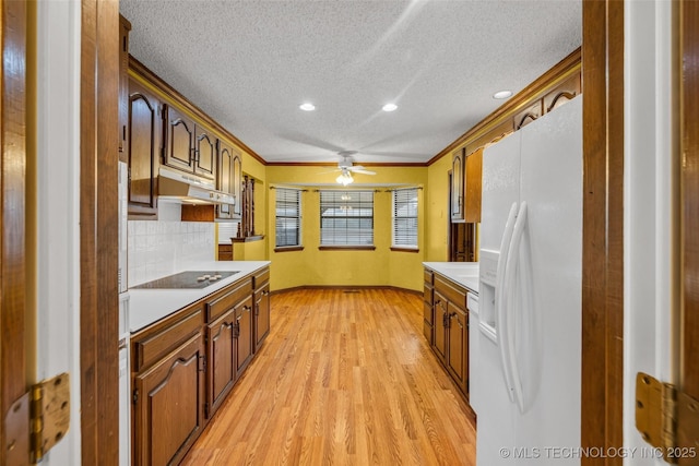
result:
M 68 434 L 43 465 L 79 465 L 80 2 L 37 2 L 37 380 L 70 373 Z

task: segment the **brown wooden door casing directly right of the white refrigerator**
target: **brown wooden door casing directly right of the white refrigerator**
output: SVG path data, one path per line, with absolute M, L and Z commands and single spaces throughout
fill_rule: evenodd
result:
M 583 1 L 582 25 L 581 446 L 607 451 L 624 445 L 624 2 Z

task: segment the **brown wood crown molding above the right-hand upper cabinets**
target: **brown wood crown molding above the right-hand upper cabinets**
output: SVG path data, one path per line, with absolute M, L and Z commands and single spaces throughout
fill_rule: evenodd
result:
M 450 155 L 469 144 L 472 141 L 483 136 L 489 131 L 495 130 L 498 126 L 505 123 L 508 119 L 514 117 L 519 111 L 525 109 L 533 100 L 543 97 L 552 88 L 566 81 L 574 73 L 581 70 L 581 48 L 572 51 L 568 57 L 564 58 L 546 73 L 533 81 L 530 85 L 511 97 L 507 103 L 498 107 L 493 113 L 485 117 L 475 127 L 459 136 L 454 142 L 442 148 L 437 155 L 427 162 L 427 166 L 433 165 L 441 157 Z M 477 147 L 474 147 L 477 148 Z

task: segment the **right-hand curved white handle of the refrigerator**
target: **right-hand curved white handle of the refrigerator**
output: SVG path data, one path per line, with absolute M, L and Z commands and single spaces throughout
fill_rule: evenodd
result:
M 507 339 L 508 339 L 508 362 L 510 363 L 510 373 L 512 378 L 512 391 L 514 392 L 514 401 L 517 402 L 517 406 L 520 408 L 520 413 L 524 413 L 524 394 L 522 392 L 522 377 L 520 374 L 520 367 L 517 362 L 517 355 L 514 351 L 514 336 L 520 332 L 520 328 L 517 328 L 513 323 L 514 311 L 512 303 L 516 299 L 517 292 L 517 284 L 518 284 L 518 272 L 520 271 L 520 246 L 522 243 L 522 234 L 524 232 L 524 228 L 526 227 L 526 202 L 522 202 L 520 204 L 519 213 L 517 214 L 517 222 L 514 223 L 514 229 L 512 231 L 512 240 L 510 243 L 510 249 L 507 254 L 507 265 L 505 268 L 505 284 L 506 284 L 506 309 L 505 315 L 507 321 Z M 523 338 L 523 335 L 520 335 L 520 338 Z

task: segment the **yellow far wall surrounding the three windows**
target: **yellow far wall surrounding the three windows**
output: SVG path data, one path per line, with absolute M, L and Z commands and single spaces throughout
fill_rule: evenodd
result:
M 244 167 L 245 169 L 245 167 Z M 380 188 L 374 198 L 374 251 L 320 251 L 320 194 L 308 187 L 301 195 L 303 251 L 274 252 L 274 190 L 269 186 L 289 183 L 334 183 L 337 174 L 323 174 L 331 167 L 266 167 L 268 248 L 271 265 L 271 288 L 299 286 L 395 286 L 422 290 L 425 248 L 425 189 L 419 190 L 419 251 L 391 251 L 391 193 Z M 371 167 L 376 176 L 356 175 L 355 183 L 407 183 L 425 187 L 426 167 Z M 362 187 L 353 184 L 351 189 Z M 372 189 L 372 188 L 368 188 Z M 246 258 L 248 259 L 248 258 Z

